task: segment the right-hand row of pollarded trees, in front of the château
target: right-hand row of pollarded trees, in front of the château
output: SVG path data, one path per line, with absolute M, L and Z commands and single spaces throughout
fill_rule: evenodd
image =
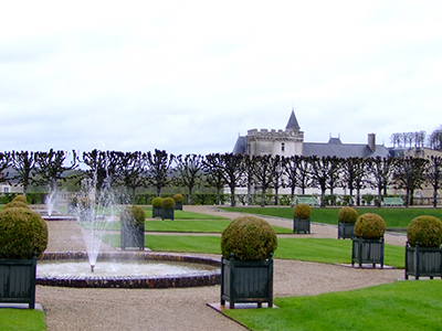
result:
M 269 189 L 277 192 L 280 188 L 290 188 L 292 201 L 295 189 L 305 194 L 306 189 L 320 191 L 320 204 L 325 206 L 325 194 L 330 195 L 338 188 L 348 190 L 349 195 L 356 193 L 356 204 L 360 204 L 360 193 L 370 188 L 378 191 L 378 201 L 387 195 L 390 188 L 402 189 L 406 193 L 406 205 L 413 203 L 414 191 L 423 185 L 433 188 L 433 205 L 436 205 L 436 194 L 442 182 L 441 158 L 335 158 L 335 157 L 302 157 L 288 158 L 254 156 L 242 157 L 233 154 L 210 154 L 206 157 L 210 169 L 219 169 L 225 184 L 231 190 L 231 204 L 234 204 L 234 189 L 246 186 L 249 194 L 252 189 L 261 190 L 264 195 Z M 262 199 L 262 203 L 264 203 Z M 351 203 L 351 201 L 350 201 Z M 333 200 L 332 200 L 333 204 Z

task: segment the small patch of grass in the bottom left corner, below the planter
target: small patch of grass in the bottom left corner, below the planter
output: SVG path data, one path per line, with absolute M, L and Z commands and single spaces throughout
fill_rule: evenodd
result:
M 31 309 L 0 309 L 0 331 L 46 330 L 44 312 Z

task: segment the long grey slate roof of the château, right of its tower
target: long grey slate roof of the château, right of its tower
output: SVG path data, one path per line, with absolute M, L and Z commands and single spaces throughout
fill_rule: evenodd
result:
M 368 145 L 365 143 L 322 143 L 322 142 L 304 142 L 303 156 L 313 157 L 337 157 L 337 158 L 388 158 L 390 153 L 382 145 L 377 145 L 376 150 L 372 151 Z

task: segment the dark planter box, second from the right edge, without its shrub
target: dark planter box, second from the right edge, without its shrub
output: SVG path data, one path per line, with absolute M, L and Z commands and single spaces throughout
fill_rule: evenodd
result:
M 383 268 L 383 237 L 380 239 L 352 238 L 351 265 L 355 263 L 362 267 L 365 264 L 371 264 L 376 268 L 376 264 L 380 264 Z

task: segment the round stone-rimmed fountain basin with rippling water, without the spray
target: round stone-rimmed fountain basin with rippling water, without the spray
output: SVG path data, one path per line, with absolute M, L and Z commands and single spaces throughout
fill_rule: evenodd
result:
M 150 252 L 101 253 L 94 273 L 84 252 L 44 253 L 36 284 L 77 288 L 170 288 L 220 284 L 220 260 Z

